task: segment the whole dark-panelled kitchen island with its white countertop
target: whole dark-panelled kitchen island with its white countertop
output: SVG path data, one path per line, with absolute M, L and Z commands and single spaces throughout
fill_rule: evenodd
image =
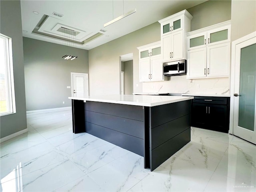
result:
M 72 99 L 73 132 L 144 157 L 154 170 L 190 142 L 193 96 L 108 95 Z

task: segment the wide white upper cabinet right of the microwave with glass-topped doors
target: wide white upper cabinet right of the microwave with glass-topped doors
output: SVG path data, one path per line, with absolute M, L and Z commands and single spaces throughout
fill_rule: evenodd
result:
M 187 78 L 228 77 L 231 22 L 187 33 Z

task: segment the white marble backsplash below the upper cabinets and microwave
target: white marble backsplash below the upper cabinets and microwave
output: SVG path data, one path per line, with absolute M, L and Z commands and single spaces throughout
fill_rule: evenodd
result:
M 170 76 L 168 81 L 144 82 L 143 93 L 198 93 L 198 94 L 230 94 L 228 77 L 186 79 L 186 75 Z

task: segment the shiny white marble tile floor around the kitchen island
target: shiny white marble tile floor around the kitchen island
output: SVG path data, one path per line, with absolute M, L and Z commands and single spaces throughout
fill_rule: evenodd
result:
M 0 146 L 0 191 L 255 191 L 256 146 L 192 128 L 191 142 L 153 172 L 143 157 L 72 133 L 70 110 L 28 114 L 28 130 Z

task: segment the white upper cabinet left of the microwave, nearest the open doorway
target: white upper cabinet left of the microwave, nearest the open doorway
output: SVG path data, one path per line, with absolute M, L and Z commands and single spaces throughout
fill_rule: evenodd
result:
M 154 42 L 138 47 L 140 82 L 163 81 L 161 42 Z

